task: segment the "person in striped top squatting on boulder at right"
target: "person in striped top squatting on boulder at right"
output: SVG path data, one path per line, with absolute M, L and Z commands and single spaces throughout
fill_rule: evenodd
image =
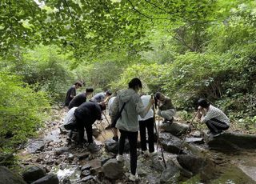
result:
M 201 122 L 206 123 L 209 128 L 207 134 L 212 134 L 213 137 L 217 137 L 222 134 L 222 130 L 227 130 L 230 127 L 230 119 L 215 106 L 210 105 L 206 99 L 200 98 L 198 100 L 198 118 Z

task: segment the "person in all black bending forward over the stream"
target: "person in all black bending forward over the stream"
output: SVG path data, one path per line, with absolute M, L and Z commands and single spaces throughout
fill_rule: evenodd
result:
M 84 102 L 82 105 L 78 106 L 76 110 L 74 110 L 74 116 L 76 118 L 78 129 L 79 144 L 85 142 L 84 128 L 86 128 L 87 141 L 89 146 L 90 144 L 93 144 L 94 140 L 92 125 L 96 120 L 100 120 L 102 118 L 102 110 L 106 110 L 105 103 L 97 102 Z

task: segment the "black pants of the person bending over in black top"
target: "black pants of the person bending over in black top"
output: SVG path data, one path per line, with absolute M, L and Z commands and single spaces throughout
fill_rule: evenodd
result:
M 86 128 L 86 134 L 87 134 L 87 141 L 88 143 L 93 143 L 93 127 L 90 123 L 86 123 L 85 120 L 76 117 L 77 120 L 77 129 L 78 129 L 78 136 L 79 136 L 79 143 L 82 143 L 83 137 L 85 135 L 85 129 Z

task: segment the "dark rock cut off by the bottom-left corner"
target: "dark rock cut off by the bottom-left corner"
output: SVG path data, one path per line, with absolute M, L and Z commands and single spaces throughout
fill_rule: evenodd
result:
M 14 174 L 5 166 L 0 166 L 0 184 L 26 184 L 22 177 Z

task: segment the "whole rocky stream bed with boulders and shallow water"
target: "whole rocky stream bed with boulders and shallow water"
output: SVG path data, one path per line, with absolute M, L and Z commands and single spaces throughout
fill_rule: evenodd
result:
M 24 169 L 22 178 L 0 167 L 0 176 L 6 179 L 1 184 L 134 183 L 128 179 L 130 155 L 124 154 L 123 163 L 115 159 L 118 143 L 112 140 L 111 130 L 104 130 L 106 118 L 101 124 L 96 123 L 95 146 L 88 148 L 86 144 L 78 146 L 75 141 L 67 141 L 68 131 L 62 127 L 65 110 L 56 109 L 54 115 L 54 122 L 48 122 L 40 137 L 30 140 L 18 153 Z M 228 131 L 210 138 L 203 131 L 192 130 L 179 153 L 189 125 L 160 122 L 159 127 L 166 167 L 157 138 L 157 154 L 153 157 L 145 157 L 138 143 L 139 180 L 135 183 L 256 183 L 255 135 Z

